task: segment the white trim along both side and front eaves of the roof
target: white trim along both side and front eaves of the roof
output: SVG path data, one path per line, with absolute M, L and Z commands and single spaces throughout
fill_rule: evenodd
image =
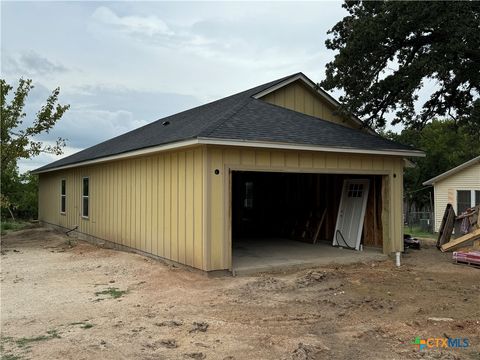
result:
M 135 156 L 149 155 L 166 150 L 174 150 L 194 145 L 223 145 L 223 146 L 243 146 L 243 147 L 257 147 L 268 149 L 284 149 L 284 150 L 302 150 L 302 151 L 322 151 L 322 152 L 336 152 L 336 153 L 350 153 L 350 154 L 372 154 L 372 155 L 393 155 L 393 156 L 407 156 L 407 157 L 425 157 L 422 151 L 416 150 L 362 150 L 356 148 L 340 148 L 316 145 L 296 145 L 288 143 L 265 142 L 265 141 L 249 141 L 249 140 L 229 140 L 229 139 L 210 139 L 199 137 L 194 140 L 178 141 L 166 145 L 152 146 L 150 148 L 129 151 L 124 154 L 106 156 L 103 158 L 82 161 L 74 164 L 59 166 L 56 168 L 45 169 L 41 171 L 33 171 L 33 174 L 41 174 L 50 171 L 70 169 L 79 166 L 94 165 L 107 161 L 127 159 Z

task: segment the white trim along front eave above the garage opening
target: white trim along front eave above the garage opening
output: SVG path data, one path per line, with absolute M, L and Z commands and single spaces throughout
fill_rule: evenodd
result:
M 265 141 L 242 141 L 242 140 L 228 140 L 228 139 L 206 139 L 206 138 L 198 138 L 198 139 L 201 144 L 205 144 L 205 145 L 243 146 L 243 147 L 267 148 L 267 149 L 321 151 L 321 152 L 349 153 L 349 154 L 425 157 L 425 154 L 422 151 L 415 151 L 415 150 L 411 150 L 411 151 L 362 150 L 362 149 L 356 149 L 356 148 L 340 148 L 340 147 L 315 146 L 315 145 L 296 145 L 296 144 L 265 142 Z

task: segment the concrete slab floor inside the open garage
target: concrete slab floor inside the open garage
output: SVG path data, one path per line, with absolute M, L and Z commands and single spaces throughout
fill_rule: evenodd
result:
M 233 241 L 233 275 L 282 271 L 328 264 L 351 264 L 387 259 L 379 248 L 355 251 L 320 241 L 309 244 L 278 238 Z

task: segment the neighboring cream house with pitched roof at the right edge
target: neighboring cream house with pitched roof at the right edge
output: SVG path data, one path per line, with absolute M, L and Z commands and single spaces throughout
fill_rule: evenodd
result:
M 438 231 L 448 203 L 452 204 L 457 215 L 480 205 L 480 156 L 425 181 L 423 185 L 433 186 L 435 231 Z

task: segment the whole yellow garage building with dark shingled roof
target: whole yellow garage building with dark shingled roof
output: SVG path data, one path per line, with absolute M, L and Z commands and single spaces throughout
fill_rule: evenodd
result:
M 155 121 L 37 169 L 39 220 L 205 271 L 262 244 L 402 251 L 423 153 L 338 106 L 298 73 Z

